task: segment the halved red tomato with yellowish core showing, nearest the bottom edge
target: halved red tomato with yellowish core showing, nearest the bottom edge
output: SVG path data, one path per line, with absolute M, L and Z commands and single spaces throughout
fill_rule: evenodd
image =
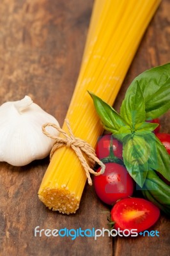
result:
M 160 210 L 143 198 L 125 198 L 117 202 L 111 210 L 114 228 L 120 230 L 147 230 L 158 220 Z

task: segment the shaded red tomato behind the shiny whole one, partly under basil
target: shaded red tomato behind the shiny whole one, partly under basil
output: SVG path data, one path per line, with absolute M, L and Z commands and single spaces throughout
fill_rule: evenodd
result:
M 96 154 L 99 159 L 108 157 L 110 154 L 110 145 L 111 145 L 111 134 L 105 134 L 98 140 L 97 148 L 96 148 Z M 114 153 L 114 156 L 120 158 L 123 160 L 122 157 L 122 151 L 123 151 L 123 145 L 120 141 L 116 140 L 112 137 L 112 150 Z

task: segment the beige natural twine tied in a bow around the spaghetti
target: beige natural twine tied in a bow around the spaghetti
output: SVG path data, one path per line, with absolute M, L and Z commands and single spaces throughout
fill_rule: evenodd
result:
M 92 180 L 91 180 L 91 177 L 90 177 L 89 173 L 93 173 L 94 175 L 98 176 L 98 175 L 104 173 L 105 165 L 104 165 L 104 163 L 102 163 L 102 161 L 100 161 L 97 158 L 94 148 L 91 147 L 91 145 L 89 145 L 89 143 L 87 143 L 84 140 L 81 140 L 80 138 L 76 138 L 73 135 L 73 132 L 72 132 L 72 129 L 71 129 L 70 124 L 68 122 L 68 119 L 65 119 L 65 122 L 66 122 L 66 125 L 68 127 L 68 131 L 70 133 L 70 136 L 65 131 L 63 131 L 63 129 L 61 129 L 60 127 L 58 127 L 55 124 L 46 123 L 42 126 L 43 134 L 45 134 L 46 136 L 48 136 L 51 139 L 56 140 L 55 143 L 54 143 L 54 146 L 52 147 L 52 150 L 50 152 L 50 159 L 52 158 L 54 152 L 58 148 L 63 147 L 63 146 L 71 147 L 74 150 L 77 157 L 79 157 L 79 160 L 81 161 L 81 164 L 82 164 L 82 166 L 83 166 L 83 168 L 86 172 L 86 176 L 88 178 L 88 184 L 92 185 Z M 59 132 L 61 132 L 61 134 L 63 134 L 65 136 L 65 138 L 61 138 L 59 136 L 52 136 L 49 132 L 47 132 L 45 130 L 45 127 L 47 127 L 47 126 L 54 127 L 54 129 L 57 129 Z M 83 153 L 86 154 L 86 158 L 87 158 L 88 161 L 83 156 Z M 88 162 L 91 164 L 91 166 L 95 166 L 95 163 L 98 163 L 102 167 L 100 172 L 94 172 L 93 169 L 90 168 Z

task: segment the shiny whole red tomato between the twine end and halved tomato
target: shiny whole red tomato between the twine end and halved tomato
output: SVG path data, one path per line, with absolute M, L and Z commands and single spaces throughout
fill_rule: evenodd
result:
M 112 205 L 120 198 L 132 196 L 134 180 L 123 165 L 107 163 L 104 174 L 94 177 L 94 187 L 98 197 L 105 204 Z

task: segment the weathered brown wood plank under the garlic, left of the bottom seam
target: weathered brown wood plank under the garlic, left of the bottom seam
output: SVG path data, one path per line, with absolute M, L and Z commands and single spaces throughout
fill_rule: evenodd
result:
M 92 5 L 91 0 L 1 1 L 1 104 L 27 94 L 62 124 L 79 74 Z M 89 186 L 76 215 L 45 208 L 37 193 L 48 163 L 45 159 L 21 168 L 1 163 L 0 254 L 84 255 L 88 248 L 87 255 L 111 255 L 112 239 L 107 237 L 34 237 L 38 225 L 107 227 L 105 214 L 100 214 L 105 207 Z

